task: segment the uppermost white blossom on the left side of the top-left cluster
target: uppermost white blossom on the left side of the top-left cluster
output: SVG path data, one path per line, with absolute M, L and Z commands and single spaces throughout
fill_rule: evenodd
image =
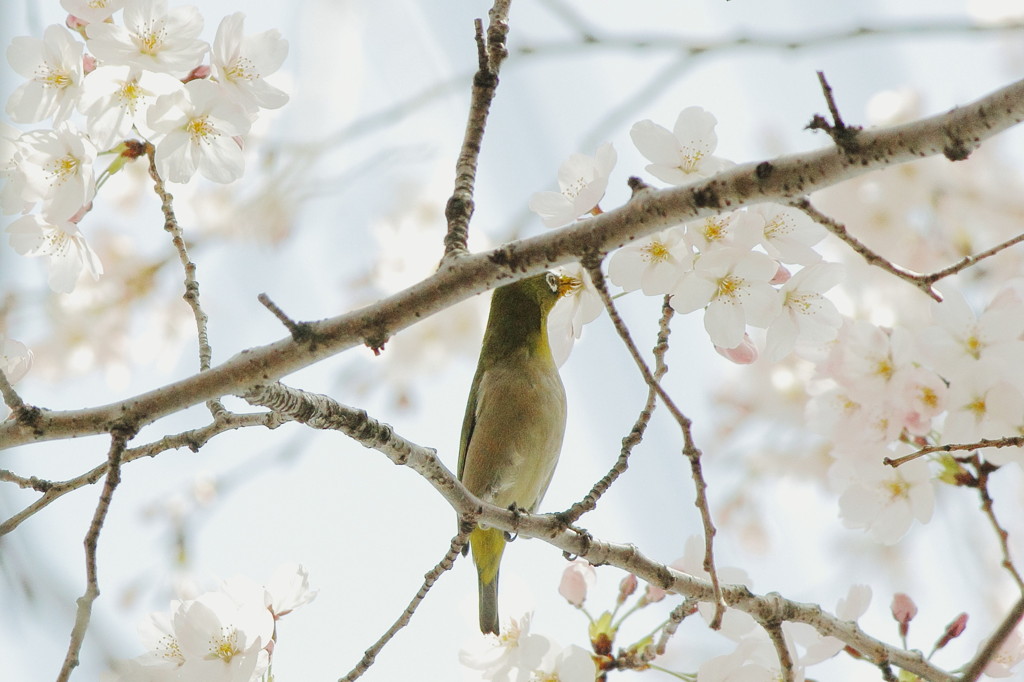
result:
M 82 85 L 82 43 L 68 29 L 46 27 L 43 39 L 18 36 L 7 47 L 7 60 L 28 78 L 7 99 L 7 115 L 15 123 L 36 123 L 53 117 L 54 125 L 75 111 Z

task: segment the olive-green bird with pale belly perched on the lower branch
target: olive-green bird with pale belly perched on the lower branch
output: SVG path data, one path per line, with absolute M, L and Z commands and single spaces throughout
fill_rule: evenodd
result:
M 565 433 L 565 390 L 548 344 L 548 313 L 564 293 L 544 272 L 500 287 L 490 298 L 480 359 L 459 446 L 459 480 L 498 507 L 534 512 L 555 472 Z M 469 536 L 480 595 L 480 632 L 499 634 L 498 566 L 506 535 Z

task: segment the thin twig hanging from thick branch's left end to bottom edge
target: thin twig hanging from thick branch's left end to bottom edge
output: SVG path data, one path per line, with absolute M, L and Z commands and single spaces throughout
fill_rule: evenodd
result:
M 75 627 L 71 631 L 71 643 L 68 645 L 68 654 L 65 656 L 63 665 L 57 674 L 57 682 L 67 682 L 72 671 L 78 667 L 79 652 L 82 650 L 82 642 L 85 640 L 85 631 L 89 627 L 89 619 L 92 615 L 92 603 L 99 596 L 99 579 L 96 573 L 96 545 L 99 542 L 99 531 L 103 527 L 106 519 L 106 512 L 111 508 L 111 500 L 114 498 L 114 489 L 121 482 L 121 457 L 124 455 L 125 445 L 131 437 L 130 433 L 115 431 L 111 434 L 111 449 L 106 454 L 106 481 L 103 489 L 99 493 L 99 501 L 92 514 L 92 522 L 85 534 L 85 594 L 78 598 L 78 609 L 75 613 Z

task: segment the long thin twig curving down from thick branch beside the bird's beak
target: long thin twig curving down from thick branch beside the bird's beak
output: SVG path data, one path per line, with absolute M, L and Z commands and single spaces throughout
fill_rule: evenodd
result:
M 703 471 L 700 466 L 700 451 L 697 449 L 696 444 L 693 442 L 693 434 L 691 432 L 692 422 L 686 417 L 682 411 L 676 407 L 675 401 L 669 396 L 669 394 L 662 387 L 662 384 L 654 378 L 651 373 L 650 368 L 644 361 L 643 356 L 640 354 L 640 349 L 633 342 L 633 337 L 630 335 L 629 328 L 626 327 L 626 323 L 618 315 L 618 310 L 615 309 L 615 304 L 611 300 L 611 295 L 608 294 L 608 287 L 604 281 L 604 273 L 601 271 L 600 261 L 593 261 L 592 259 L 585 259 L 583 263 L 587 271 L 590 272 L 591 282 L 594 283 L 594 288 L 597 289 L 597 293 L 600 294 L 601 300 L 604 302 L 604 308 L 608 311 L 608 317 L 611 318 L 611 324 L 614 325 L 615 331 L 618 333 L 620 338 L 622 338 L 623 343 L 630 351 L 630 355 L 633 356 L 633 360 L 636 363 L 637 368 L 640 370 L 640 374 L 643 376 L 644 382 L 647 386 L 655 391 L 658 397 L 665 402 L 665 407 L 669 410 L 673 417 L 675 417 L 676 422 L 679 424 L 679 428 L 683 433 L 683 455 L 686 456 L 690 463 L 690 475 L 693 477 L 693 486 L 696 488 L 696 500 L 693 504 L 696 506 L 697 510 L 700 512 L 700 521 L 703 525 L 703 536 L 705 536 L 705 558 L 703 558 L 703 569 L 708 571 L 708 576 L 711 579 L 711 584 L 715 592 L 715 615 L 711 621 L 711 628 L 718 630 L 722 627 L 722 619 L 725 616 L 725 600 L 722 598 L 722 585 L 718 579 L 718 568 L 715 566 L 715 545 L 714 538 L 717 530 L 715 529 L 715 523 L 711 517 L 711 509 L 708 505 L 708 482 L 705 480 Z

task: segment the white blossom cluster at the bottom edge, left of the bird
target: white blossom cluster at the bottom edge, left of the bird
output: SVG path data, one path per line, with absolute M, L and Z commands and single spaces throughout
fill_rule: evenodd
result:
M 256 682 L 272 663 L 276 622 L 316 596 L 299 564 L 286 564 L 261 586 L 245 577 L 219 590 L 175 600 L 139 626 L 146 652 L 120 662 L 105 682 Z

